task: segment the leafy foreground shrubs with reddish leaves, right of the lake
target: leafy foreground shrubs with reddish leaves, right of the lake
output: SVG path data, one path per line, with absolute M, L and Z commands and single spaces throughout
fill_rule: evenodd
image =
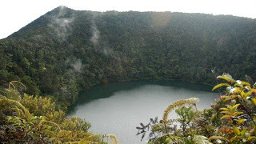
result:
M 210 109 L 198 111 L 198 98 L 179 100 L 166 108 L 160 122 L 140 123 L 138 134 L 142 139 L 148 134 L 148 143 L 154 144 L 255 143 L 256 83 L 235 81 L 229 74 L 217 78 L 226 82 L 213 90 L 226 86 L 226 91 Z M 174 110 L 178 118 L 169 119 Z

